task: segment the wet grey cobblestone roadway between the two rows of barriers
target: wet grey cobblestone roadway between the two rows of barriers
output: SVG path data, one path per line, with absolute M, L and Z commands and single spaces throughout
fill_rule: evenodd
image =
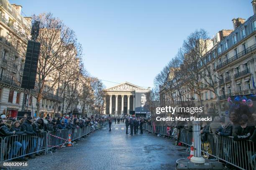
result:
M 111 132 L 106 125 L 74 147 L 28 160 L 28 167 L 23 169 L 174 170 L 176 160 L 187 156 L 185 148 L 174 146 L 171 140 L 145 132 L 126 135 L 124 123 L 113 123 Z

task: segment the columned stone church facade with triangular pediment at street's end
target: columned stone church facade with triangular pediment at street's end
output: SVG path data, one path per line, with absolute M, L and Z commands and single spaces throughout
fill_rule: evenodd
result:
M 150 87 L 145 89 L 130 82 L 123 82 L 106 88 L 105 92 L 107 95 L 105 98 L 104 114 L 122 117 L 130 115 L 130 111 L 136 110 L 136 94 L 138 92 L 150 92 Z

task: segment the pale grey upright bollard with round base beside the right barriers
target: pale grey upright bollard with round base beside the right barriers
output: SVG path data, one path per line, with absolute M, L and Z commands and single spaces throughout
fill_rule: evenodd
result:
M 190 159 L 192 163 L 205 163 L 205 159 L 201 155 L 201 137 L 200 137 L 200 122 L 193 121 L 193 135 L 195 144 L 195 154 Z

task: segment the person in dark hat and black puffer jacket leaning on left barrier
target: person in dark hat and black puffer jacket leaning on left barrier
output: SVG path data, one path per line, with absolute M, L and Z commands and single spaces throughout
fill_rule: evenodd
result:
M 33 129 L 32 123 L 33 123 L 33 118 L 31 116 L 28 116 L 26 121 L 21 124 L 21 130 L 27 134 L 27 138 L 22 140 L 22 155 L 26 154 L 26 149 L 28 147 L 28 143 L 31 143 L 31 145 L 30 145 L 31 150 L 33 150 L 35 143 L 36 143 L 35 138 L 31 138 L 31 136 L 30 136 L 30 135 L 36 134 L 36 132 Z M 29 140 L 29 139 L 31 139 L 31 140 Z M 24 156 L 21 158 L 24 158 Z M 30 154 L 30 155 L 28 155 L 28 158 L 35 158 L 35 157 L 33 156 L 33 154 Z

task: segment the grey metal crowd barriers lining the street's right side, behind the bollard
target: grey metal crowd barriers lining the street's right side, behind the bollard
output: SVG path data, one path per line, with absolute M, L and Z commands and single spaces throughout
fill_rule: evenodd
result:
M 192 129 L 188 130 L 185 127 L 178 129 L 177 126 L 154 125 L 154 123 L 153 125 L 151 123 L 144 124 L 143 129 L 154 135 L 174 139 L 177 141 L 176 145 L 178 143 L 187 147 L 192 145 Z M 202 156 L 205 159 L 218 160 L 241 170 L 256 170 L 256 145 L 253 141 L 235 141 L 233 136 L 208 133 L 207 138 L 201 142 Z

